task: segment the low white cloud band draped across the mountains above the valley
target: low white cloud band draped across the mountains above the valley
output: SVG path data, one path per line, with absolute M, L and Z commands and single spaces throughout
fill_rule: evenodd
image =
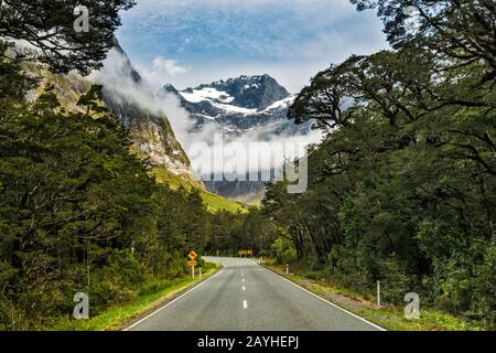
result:
M 160 61 L 158 66 L 164 62 Z M 267 171 L 279 168 L 284 160 L 302 157 L 304 147 L 319 143 L 322 132 L 314 130 L 309 133 L 289 135 L 274 133 L 277 124 L 262 128 L 245 131 L 235 139 L 223 137 L 223 127 L 216 122 L 206 124 L 201 131 L 192 132 L 193 121 L 190 114 L 180 105 L 180 100 L 172 94 L 157 94 L 153 83 L 143 76 L 141 82 L 136 82 L 131 76 L 130 63 L 121 53 L 112 50 L 104 62 L 104 68 L 95 72 L 89 77 L 93 82 L 103 84 L 107 92 L 116 97 L 132 104 L 143 111 L 151 111 L 157 116 L 166 116 L 173 128 L 177 141 L 183 146 L 192 161 L 194 171 L 211 171 L 214 173 L 228 173 L 236 163 L 245 163 L 246 171 Z M 249 119 L 249 117 L 245 117 Z M 220 141 L 218 137 L 220 136 Z M 220 142 L 220 143 L 219 143 Z M 261 143 L 265 142 L 266 145 Z M 276 146 L 273 156 L 269 159 L 261 158 L 267 143 Z M 220 146 L 222 145 L 222 146 Z M 283 150 L 277 146 L 285 147 Z M 197 153 L 202 150 L 204 153 Z M 239 153 L 247 152 L 246 158 L 239 160 Z M 223 163 L 214 163 L 222 160 Z M 274 162 L 277 163 L 274 165 Z M 242 165 L 241 170 L 242 169 Z M 226 170 L 226 168 L 228 170 Z

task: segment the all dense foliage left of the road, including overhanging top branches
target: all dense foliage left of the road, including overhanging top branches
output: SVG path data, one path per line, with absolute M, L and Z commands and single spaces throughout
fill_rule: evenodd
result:
M 0 330 L 58 327 L 72 320 L 76 292 L 89 296 L 91 317 L 131 302 L 187 276 L 186 254 L 202 254 L 209 232 L 200 193 L 158 184 L 131 153 L 129 131 L 101 106 L 101 86 L 83 94 L 82 113 L 67 111 L 53 87 L 22 69 L 33 57 L 8 44 L 56 26 L 53 40 L 66 47 L 43 52 L 37 64 L 85 72 L 98 66 L 117 10 L 131 2 L 88 2 L 100 32 L 84 39 L 65 32 L 69 20 L 51 2 L 7 1 L 0 10 Z M 15 11 L 36 17 L 15 26 Z

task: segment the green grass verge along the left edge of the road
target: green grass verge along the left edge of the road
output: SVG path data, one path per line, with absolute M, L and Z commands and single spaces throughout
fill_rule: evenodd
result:
M 211 277 L 216 272 L 220 266 L 209 264 L 211 267 L 206 269 L 203 279 Z M 116 331 L 122 329 L 128 322 L 133 319 L 145 315 L 153 310 L 160 308 L 164 303 L 175 298 L 179 293 L 185 291 L 200 279 L 196 277 L 177 278 L 162 281 L 150 286 L 149 288 L 159 288 L 158 290 L 149 290 L 143 286 L 144 295 L 139 296 L 134 302 L 115 306 L 108 308 L 105 312 L 98 314 L 89 320 L 63 322 L 53 328 L 56 331 Z M 157 286 L 159 285 L 159 286 Z M 148 290 L 144 290 L 148 289 Z

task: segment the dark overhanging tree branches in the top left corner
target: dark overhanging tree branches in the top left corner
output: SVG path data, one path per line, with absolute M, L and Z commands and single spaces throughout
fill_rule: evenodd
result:
M 88 10 L 88 32 L 74 29 L 78 15 L 74 10 L 80 6 Z M 132 6 L 132 0 L 3 0 L 0 38 L 11 44 L 22 41 L 34 47 L 18 49 L 19 58 L 46 63 L 56 73 L 77 69 L 88 74 L 101 67 L 107 51 L 115 45 L 119 11 Z

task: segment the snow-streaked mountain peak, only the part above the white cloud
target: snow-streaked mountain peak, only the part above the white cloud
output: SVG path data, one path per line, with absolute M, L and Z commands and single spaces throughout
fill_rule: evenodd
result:
M 193 133 L 211 122 L 228 139 L 254 129 L 261 140 L 309 130 L 309 126 L 295 126 L 288 120 L 288 108 L 294 96 L 269 75 L 240 76 L 184 90 L 165 85 L 161 92 L 179 97 L 194 122 Z

